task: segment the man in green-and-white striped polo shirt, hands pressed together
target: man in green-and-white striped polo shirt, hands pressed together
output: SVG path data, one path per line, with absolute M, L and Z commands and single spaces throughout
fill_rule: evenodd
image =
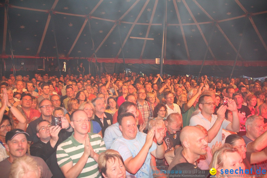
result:
M 99 154 L 106 150 L 100 135 L 88 133 L 90 122 L 83 110 L 70 116 L 74 133 L 57 147 L 57 163 L 65 177 L 99 177 Z

